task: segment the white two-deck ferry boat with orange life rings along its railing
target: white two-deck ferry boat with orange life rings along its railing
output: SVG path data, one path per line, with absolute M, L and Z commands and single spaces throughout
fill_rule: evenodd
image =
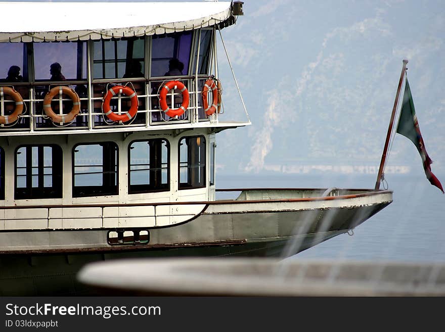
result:
M 2 296 L 86 294 L 75 274 L 98 260 L 279 256 L 297 240 L 290 256 L 392 202 L 216 189 L 216 134 L 250 125 L 221 112 L 216 56 L 241 2 L 0 7 Z

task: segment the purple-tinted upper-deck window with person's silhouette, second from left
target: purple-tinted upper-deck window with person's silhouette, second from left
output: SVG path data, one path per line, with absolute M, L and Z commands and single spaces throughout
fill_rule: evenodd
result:
M 85 80 L 85 42 L 36 42 L 34 71 L 36 80 Z

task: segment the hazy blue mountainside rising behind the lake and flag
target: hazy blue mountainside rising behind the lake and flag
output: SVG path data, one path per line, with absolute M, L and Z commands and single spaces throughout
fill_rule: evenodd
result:
M 253 125 L 219 135 L 218 162 L 229 160 L 233 164 L 225 169 L 238 172 L 311 161 L 378 166 L 402 60 L 408 58 L 432 169 L 443 172 L 445 6 L 326 6 L 246 1 L 245 16 L 222 31 Z M 221 119 L 244 120 L 225 55 L 218 57 L 227 111 Z M 388 164 L 417 163 L 414 145 L 396 135 Z

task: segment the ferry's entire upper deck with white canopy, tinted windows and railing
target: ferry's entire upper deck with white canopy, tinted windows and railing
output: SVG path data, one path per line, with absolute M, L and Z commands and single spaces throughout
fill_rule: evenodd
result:
M 2 12 L 20 20 L 0 22 L 0 136 L 242 125 L 206 114 L 202 98 L 211 75 L 217 83 L 216 30 L 235 23 L 229 2 L 2 3 Z M 168 90 L 167 108 L 185 110 L 172 117 L 160 105 L 171 80 L 189 98 Z

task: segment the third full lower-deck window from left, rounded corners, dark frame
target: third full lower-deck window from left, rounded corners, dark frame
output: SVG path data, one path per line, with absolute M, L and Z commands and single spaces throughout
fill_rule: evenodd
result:
M 164 138 L 134 141 L 129 146 L 129 194 L 170 189 L 170 145 Z

